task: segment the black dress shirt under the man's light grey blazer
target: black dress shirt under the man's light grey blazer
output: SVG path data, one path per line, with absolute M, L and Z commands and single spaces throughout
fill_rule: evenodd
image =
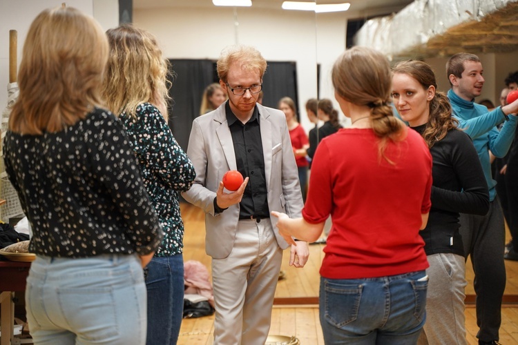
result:
M 244 178 L 249 177 L 240 202 L 240 219 L 270 216 L 267 200 L 265 158 L 262 155 L 259 111 L 256 107 L 246 124 L 233 114 L 229 102 L 225 105 L 227 123 L 232 135 L 236 166 Z

